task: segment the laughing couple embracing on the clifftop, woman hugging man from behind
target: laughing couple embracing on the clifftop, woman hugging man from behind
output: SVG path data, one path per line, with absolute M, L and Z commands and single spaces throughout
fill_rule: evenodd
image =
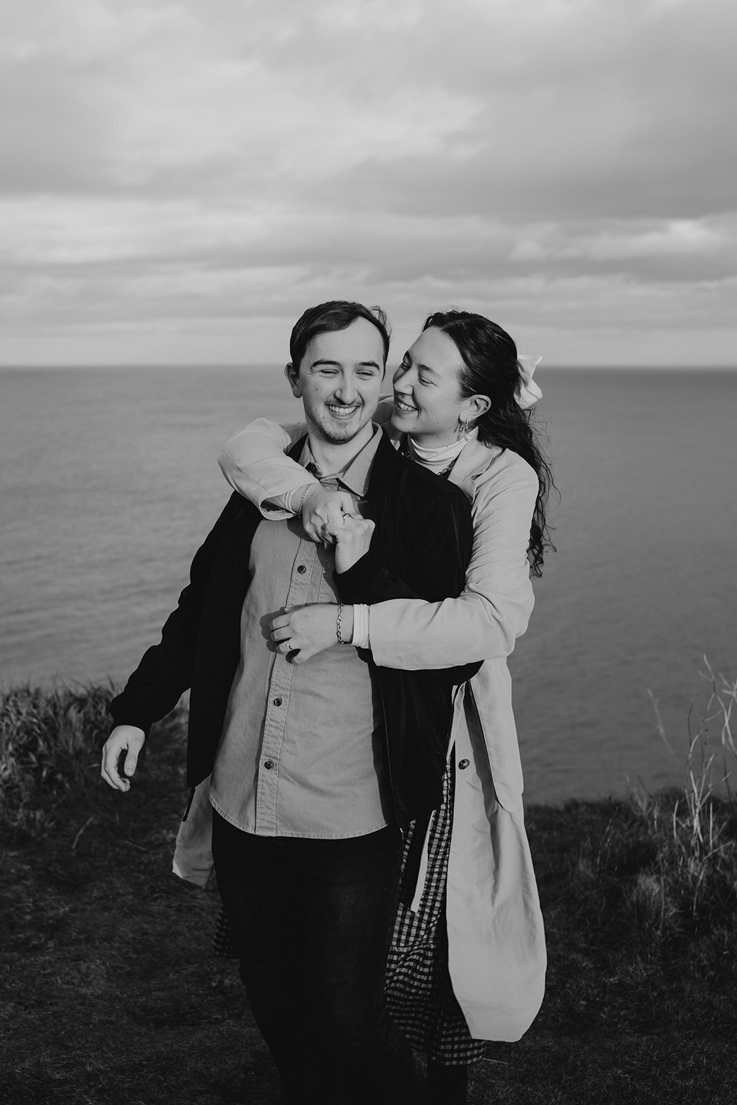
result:
M 191 688 L 178 862 L 211 812 L 289 1103 L 417 1101 L 412 1045 L 427 1099 L 463 1102 L 484 1041 L 519 1039 L 543 999 L 506 666 L 548 544 L 539 391 L 480 315 L 431 315 L 381 401 L 388 351 L 378 308 L 296 323 L 304 422 L 259 420 L 225 446 L 233 495 L 103 754 L 128 790 Z

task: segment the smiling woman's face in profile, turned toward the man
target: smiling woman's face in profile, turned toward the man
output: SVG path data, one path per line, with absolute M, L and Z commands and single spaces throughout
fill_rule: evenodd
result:
M 467 399 L 459 397 L 463 360 L 452 338 L 431 326 L 404 354 L 393 376 L 391 424 L 425 446 L 446 445 L 459 436 L 459 417 Z

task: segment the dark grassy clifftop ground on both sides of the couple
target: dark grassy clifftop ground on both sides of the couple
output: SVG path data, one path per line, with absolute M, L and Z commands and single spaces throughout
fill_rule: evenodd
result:
M 735 1101 L 737 819 L 703 781 L 709 739 L 731 739 L 717 691 L 681 791 L 528 810 L 547 994 L 519 1043 L 489 1044 L 472 1105 Z M 112 693 L 0 703 L 0 1099 L 275 1105 L 235 966 L 209 956 L 217 892 L 170 874 L 183 717 L 114 792 L 98 774 Z

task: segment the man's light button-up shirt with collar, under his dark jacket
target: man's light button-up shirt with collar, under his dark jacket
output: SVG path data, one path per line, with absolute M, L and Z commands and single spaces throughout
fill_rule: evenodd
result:
M 377 427 L 348 469 L 322 482 L 348 491 L 358 503 L 380 438 Z M 310 461 L 305 445 L 301 463 Z M 368 665 L 356 649 L 337 642 L 293 664 L 269 639 L 272 618 L 285 608 L 338 601 L 333 548 L 307 540 L 298 518 L 262 522 L 250 569 L 212 804 L 236 828 L 262 836 L 375 832 L 392 814 L 381 703 Z

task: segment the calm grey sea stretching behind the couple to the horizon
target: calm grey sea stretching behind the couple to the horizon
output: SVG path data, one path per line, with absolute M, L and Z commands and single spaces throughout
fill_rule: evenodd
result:
M 527 800 L 681 786 L 737 678 L 737 371 L 536 378 L 560 498 L 509 659 Z M 220 446 L 298 414 L 278 367 L 0 370 L 2 685 L 124 681 L 229 495 Z

